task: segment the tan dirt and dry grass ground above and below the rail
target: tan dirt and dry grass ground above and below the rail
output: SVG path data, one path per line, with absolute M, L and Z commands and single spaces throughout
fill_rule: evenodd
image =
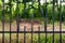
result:
M 24 31 L 24 27 L 26 27 L 26 31 L 31 31 L 31 23 L 24 23 L 24 22 L 21 22 L 20 23 L 20 31 Z M 39 24 L 39 23 L 32 23 L 32 30 L 34 31 L 38 31 L 38 28 L 40 27 L 40 31 L 44 31 L 44 24 Z M 52 27 L 52 24 L 48 24 L 48 31 L 52 31 L 53 27 Z M 0 22 L 0 31 L 2 30 L 2 23 Z M 10 30 L 10 24 L 9 23 L 4 23 L 4 31 L 9 31 Z M 17 26 L 16 26 L 16 22 L 13 22 L 11 24 L 11 31 L 16 31 L 17 30 Z M 60 30 L 60 24 L 58 22 L 54 24 L 54 30 L 55 31 L 58 31 Z M 62 30 L 65 31 L 65 24 L 62 23 Z M 16 43 L 16 34 L 17 33 L 11 33 L 11 43 Z M 44 33 L 40 33 L 40 35 L 42 34 L 42 38 L 44 39 Z M 48 35 L 48 38 L 50 39 L 50 41 L 52 41 L 52 35 L 53 34 L 50 34 Z M 60 38 L 60 34 L 56 33 L 57 37 L 55 35 L 55 42 L 58 41 L 58 38 Z M 38 33 L 32 33 L 32 39 L 34 39 L 34 42 L 37 40 L 35 39 L 38 38 Z M 41 40 L 42 40 L 41 38 Z M 65 35 L 64 35 L 65 38 Z M 57 40 L 56 40 L 57 39 Z M 24 33 L 18 33 L 18 41 L 20 43 L 24 43 Z M 46 40 L 43 40 L 46 41 Z M 4 33 L 4 42 L 5 43 L 9 43 L 10 42 L 10 33 Z M 26 33 L 26 42 L 27 43 L 30 43 L 31 42 L 31 33 Z M 2 33 L 0 33 L 0 43 L 2 43 Z M 65 39 L 64 39 L 64 43 L 65 43 Z

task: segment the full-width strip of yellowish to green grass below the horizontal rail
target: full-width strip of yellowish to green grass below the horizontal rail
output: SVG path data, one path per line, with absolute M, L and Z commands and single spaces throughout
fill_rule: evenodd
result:
M 34 33 L 32 34 L 32 43 L 46 43 L 46 34 L 41 33 L 40 34 L 40 40 L 38 39 L 38 33 Z M 0 43 L 2 40 L 2 34 L 0 33 Z M 52 43 L 52 34 L 48 33 L 48 38 L 47 38 L 47 42 L 48 43 Z M 10 42 L 10 34 L 5 33 L 4 34 L 4 42 L 9 43 Z M 16 43 L 16 33 L 12 33 L 11 35 L 11 42 L 12 43 Z M 18 42 L 20 43 L 24 43 L 24 34 L 20 33 L 18 34 Z M 30 33 L 26 33 L 26 43 L 30 43 L 31 42 L 31 34 Z M 54 43 L 58 43 L 60 42 L 60 34 L 54 34 Z M 65 34 L 62 34 L 62 43 L 65 43 Z

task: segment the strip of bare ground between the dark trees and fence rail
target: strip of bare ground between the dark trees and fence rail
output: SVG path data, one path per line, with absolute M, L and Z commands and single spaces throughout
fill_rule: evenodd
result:
M 26 27 L 26 31 L 31 31 L 31 26 L 32 26 L 32 30 L 34 31 L 38 31 L 39 27 L 40 27 L 40 31 L 44 31 L 44 25 L 43 24 L 39 24 L 38 22 L 36 23 L 24 23 L 24 22 L 20 22 L 20 31 L 24 31 L 24 27 Z M 62 23 L 62 30 L 65 31 L 65 25 L 64 23 Z M 2 30 L 2 23 L 0 22 L 0 30 Z M 10 30 L 10 24 L 9 23 L 4 23 L 4 30 L 9 31 Z M 11 31 L 16 31 L 17 30 L 17 24 L 16 22 L 13 22 L 11 24 Z M 47 25 L 47 30 L 48 31 L 52 31 L 53 30 L 53 25 L 52 24 L 48 24 Z M 58 31 L 60 30 L 60 24 L 58 22 L 54 24 L 54 30 Z

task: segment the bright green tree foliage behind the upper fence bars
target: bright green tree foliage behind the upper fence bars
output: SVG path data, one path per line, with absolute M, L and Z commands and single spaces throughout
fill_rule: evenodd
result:
M 26 2 L 26 8 L 23 3 L 23 0 L 20 0 L 18 2 L 22 3 L 16 3 L 14 0 L 9 1 L 8 3 L 4 4 L 4 19 L 9 20 L 10 19 L 10 14 L 11 19 L 16 19 L 17 16 L 20 15 L 20 18 L 30 18 L 31 14 L 34 14 L 34 18 L 44 18 L 46 17 L 46 3 L 42 5 L 39 5 L 37 1 L 32 2 L 32 6 L 29 4 L 29 1 Z M 30 8 L 31 6 L 31 8 Z M 41 10 L 38 8 L 42 8 Z M 11 8 L 11 10 L 10 10 Z M 52 2 L 49 2 L 47 4 L 47 16 L 49 20 L 52 20 L 52 15 L 54 17 L 54 20 L 60 20 L 60 14 L 58 14 L 58 6 L 54 6 L 54 14 L 53 14 L 53 5 Z M 65 6 L 63 5 L 61 9 L 61 14 L 62 14 L 62 20 L 65 20 Z M 2 19 L 2 1 L 0 0 L 0 19 Z

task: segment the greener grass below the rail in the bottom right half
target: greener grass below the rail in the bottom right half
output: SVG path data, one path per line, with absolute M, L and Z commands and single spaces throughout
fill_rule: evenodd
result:
M 52 34 L 48 34 L 47 42 L 53 43 L 52 40 L 53 40 Z M 38 37 L 35 37 L 34 43 L 39 43 L 39 41 L 40 43 L 46 43 L 46 35 L 41 34 L 40 40 L 38 39 Z M 54 34 L 54 43 L 58 43 L 58 42 L 60 42 L 60 34 Z M 65 43 L 65 34 L 62 35 L 62 43 Z

